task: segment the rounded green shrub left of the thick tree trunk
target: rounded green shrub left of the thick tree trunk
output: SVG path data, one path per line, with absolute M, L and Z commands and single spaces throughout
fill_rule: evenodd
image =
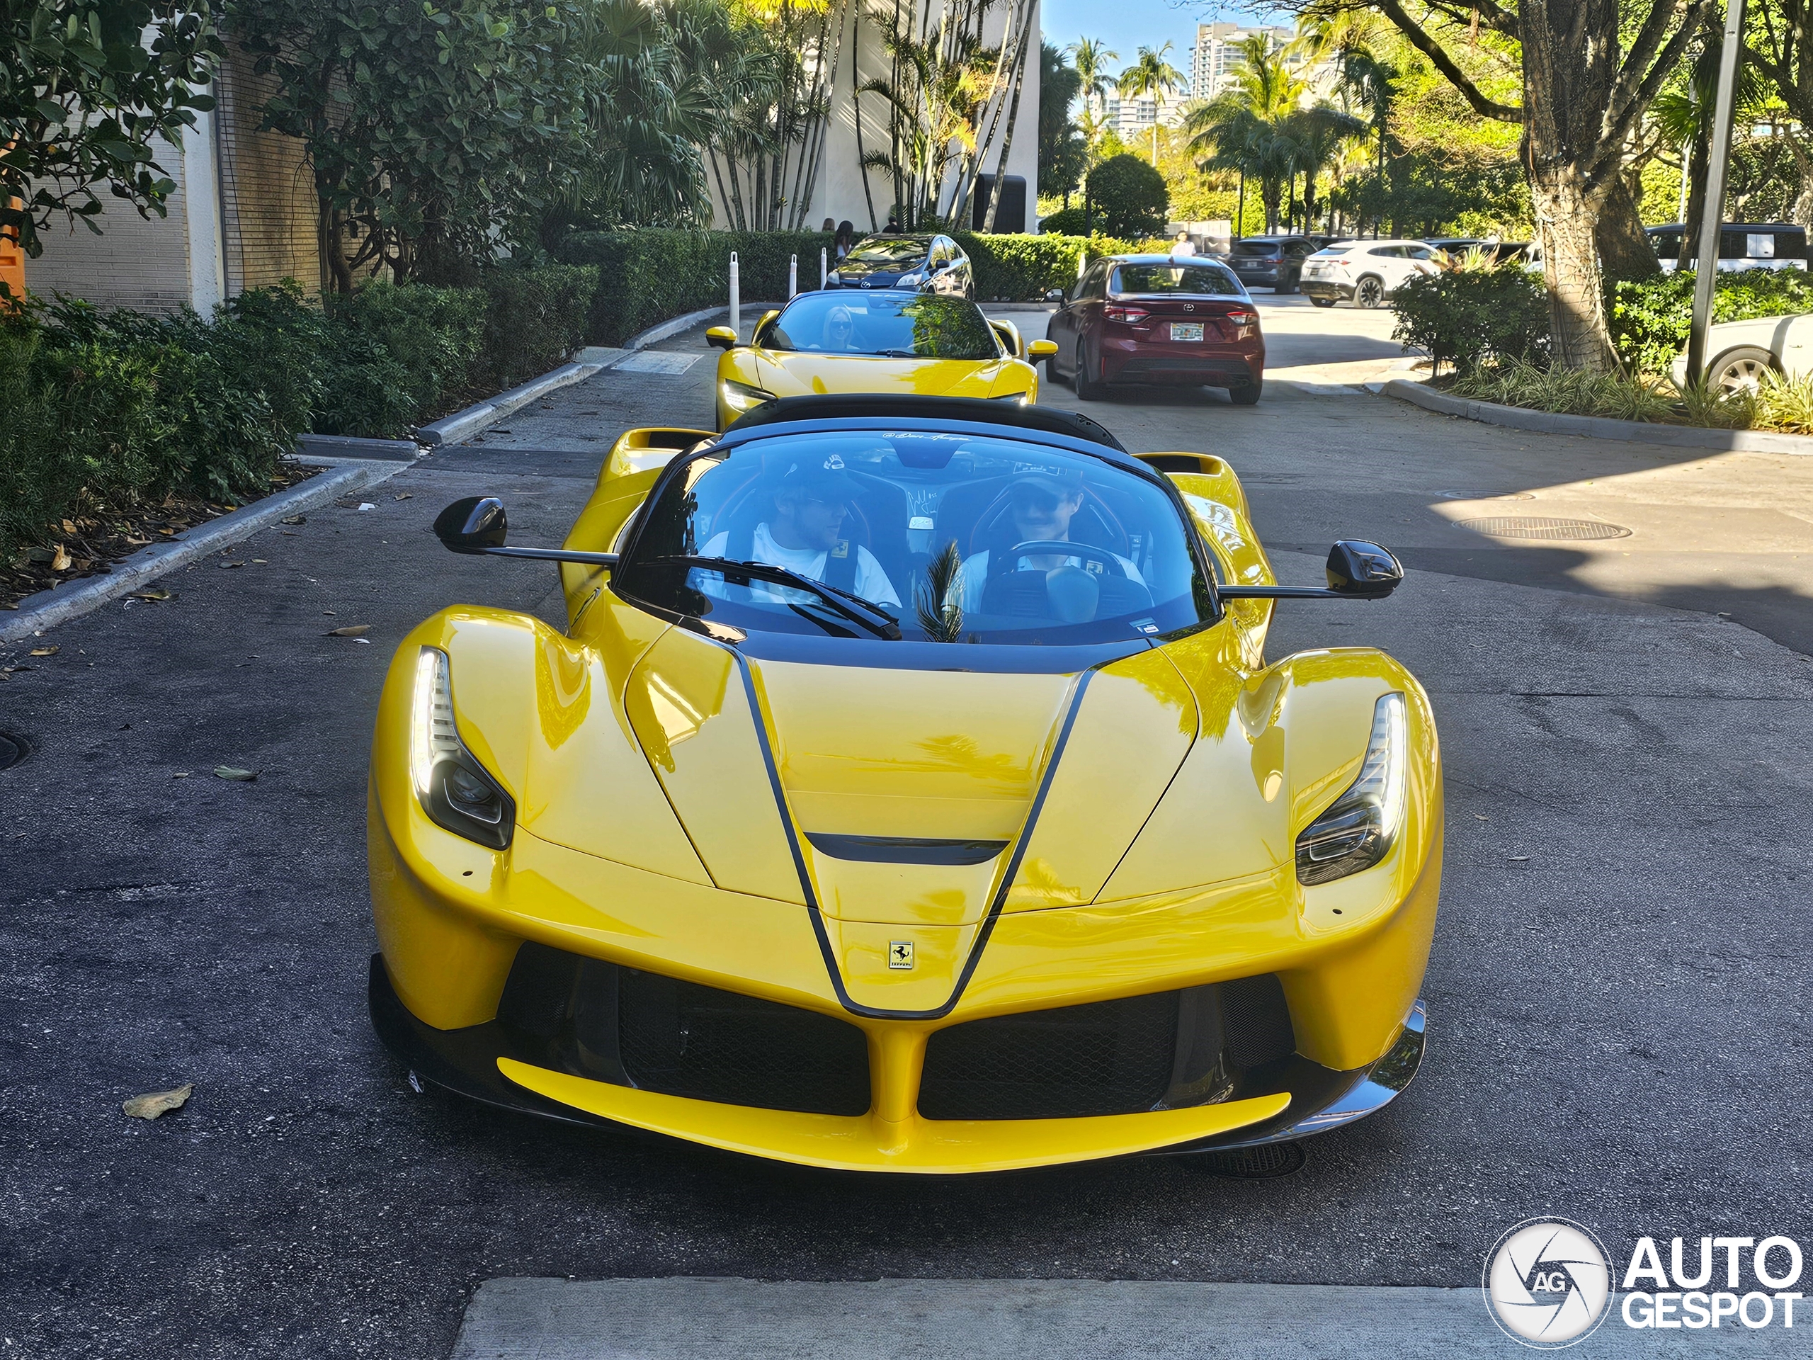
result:
M 1548 294 L 1517 265 L 1420 274 L 1391 294 L 1398 317 L 1391 337 L 1421 350 L 1440 368 L 1470 372 L 1488 359 L 1548 354 Z

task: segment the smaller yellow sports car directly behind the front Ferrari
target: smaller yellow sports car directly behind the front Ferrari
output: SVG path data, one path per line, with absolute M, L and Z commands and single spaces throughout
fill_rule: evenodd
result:
M 975 303 L 908 290 L 809 292 L 756 323 L 742 345 L 729 326 L 705 343 L 718 357 L 718 428 L 776 397 L 877 392 L 1033 403 L 1033 364 L 1055 345 L 1026 345 L 1012 321 Z

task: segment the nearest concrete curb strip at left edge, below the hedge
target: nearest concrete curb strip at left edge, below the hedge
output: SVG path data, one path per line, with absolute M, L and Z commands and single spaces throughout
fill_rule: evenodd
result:
M 27 595 L 20 602 L 18 613 L 0 613 L 0 642 L 20 642 L 34 633 L 67 624 L 71 618 L 80 618 L 109 600 L 118 600 L 121 595 L 176 571 L 179 566 L 189 566 L 212 551 L 236 544 L 286 515 L 319 506 L 346 491 L 375 486 L 395 477 L 406 466 L 395 459 L 346 459 L 334 471 L 323 471 L 286 491 L 212 519 L 189 529 L 181 539 L 132 553 L 123 562 L 116 562 L 105 577 L 89 577 L 74 586 Z

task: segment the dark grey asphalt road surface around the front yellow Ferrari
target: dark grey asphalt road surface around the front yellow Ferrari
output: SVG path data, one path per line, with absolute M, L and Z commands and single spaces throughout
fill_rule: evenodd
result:
M 58 629 L 54 656 L 0 651 L 36 667 L 0 684 L 33 745 L 0 772 L 0 1356 L 441 1360 L 471 1291 L 522 1275 L 1463 1286 L 1539 1213 L 1615 1257 L 1813 1239 L 1813 609 L 1789 566 L 1813 562 L 1813 459 L 1675 462 L 1282 384 L 1091 413 L 1226 453 L 1287 580 L 1336 535 L 1412 568 L 1383 604 L 1284 606 L 1273 635 L 1385 646 L 1436 704 L 1447 879 L 1401 1101 L 1285 1180 L 1133 1159 L 901 1184 L 415 1093 L 364 1017 L 377 689 L 442 604 L 558 611 L 549 568 L 450 557 L 428 524 L 486 491 L 519 542 L 555 540 L 609 439 L 709 419 L 709 355 L 602 374 L 373 510 L 263 531 L 170 602 Z M 1505 546 L 1441 491 L 1634 533 Z M 323 636 L 361 622 L 370 644 Z M 181 1112 L 120 1113 L 178 1083 Z

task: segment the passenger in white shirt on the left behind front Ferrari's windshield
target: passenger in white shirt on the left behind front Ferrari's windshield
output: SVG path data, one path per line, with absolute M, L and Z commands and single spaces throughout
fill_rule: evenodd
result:
M 827 586 L 838 586 L 874 604 L 890 604 L 897 609 L 901 597 L 894 591 L 888 573 L 881 569 L 881 562 L 867 548 L 843 535 L 843 520 L 850 513 L 856 491 L 856 479 L 845 470 L 839 453 L 832 453 L 821 462 L 798 461 L 787 468 L 774 491 L 774 517 L 756 526 L 749 549 L 729 551 L 731 531 L 725 529 L 713 535 L 703 555 L 787 568 L 801 577 L 823 580 Z M 836 555 L 841 562 L 848 553 L 856 553 L 856 571 L 827 575 L 830 559 Z M 848 584 L 838 580 L 838 575 L 845 575 Z M 729 588 L 716 573 L 705 575 L 700 588 L 707 595 L 727 598 Z M 751 580 L 749 595 L 763 604 L 807 604 L 812 600 L 803 591 L 765 580 Z

